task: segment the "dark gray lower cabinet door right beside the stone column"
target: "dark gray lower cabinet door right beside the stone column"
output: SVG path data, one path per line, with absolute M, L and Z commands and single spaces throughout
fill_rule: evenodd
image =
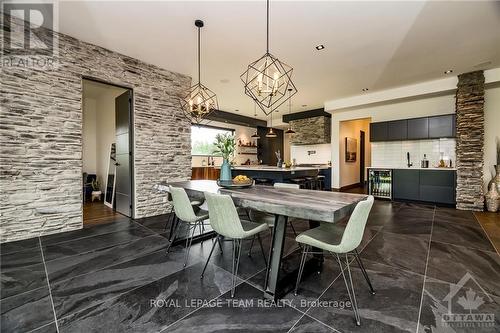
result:
M 455 204 L 456 172 L 420 170 L 420 200 Z

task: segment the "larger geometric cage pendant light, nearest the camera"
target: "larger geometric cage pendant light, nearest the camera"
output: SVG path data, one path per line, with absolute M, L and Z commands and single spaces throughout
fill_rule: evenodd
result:
M 289 98 L 286 94 L 288 89 L 293 91 L 289 94 L 291 96 L 297 93 L 297 88 L 292 82 L 293 68 L 269 53 L 269 0 L 266 26 L 266 53 L 248 65 L 240 78 L 245 86 L 245 94 L 269 115 Z

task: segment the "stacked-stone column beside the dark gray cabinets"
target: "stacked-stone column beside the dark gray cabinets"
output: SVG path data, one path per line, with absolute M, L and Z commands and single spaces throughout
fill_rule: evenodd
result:
M 484 74 L 458 76 L 457 95 L 457 209 L 484 208 Z

